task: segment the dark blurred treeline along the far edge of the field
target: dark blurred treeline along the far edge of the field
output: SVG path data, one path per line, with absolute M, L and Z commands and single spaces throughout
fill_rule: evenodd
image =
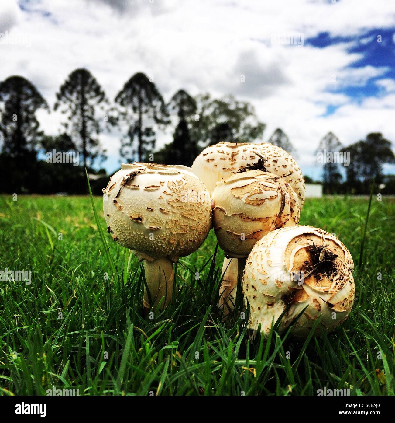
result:
M 37 118 L 38 112 L 52 109 L 64 116 L 58 135 L 44 134 Z M 158 150 L 156 135 L 170 124 L 173 140 Z M 11 76 L 0 82 L 0 170 L 7 181 L 0 192 L 84 194 L 87 168 L 94 192 L 101 193 L 107 175 L 104 169 L 95 170 L 106 158 L 99 135 L 109 131 L 121 134 L 120 156 L 125 162 L 190 166 L 206 146 L 258 141 L 264 129 L 248 102 L 233 96 L 193 97 L 184 90 L 166 102 L 141 72 L 125 82 L 110 103 L 90 71 L 76 69 L 59 87 L 52 106 L 32 82 Z M 296 153 L 280 128 L 269 142 Z M 343 147 L 330 132 L 319 144 L 317 162 L 323 163 L 324 192 L 366 193 L 373 178 L 384 192 L 395 192 L 394 177 L 383 175 L 383 164 L 395 162 L 394 154 L 380 133 Z

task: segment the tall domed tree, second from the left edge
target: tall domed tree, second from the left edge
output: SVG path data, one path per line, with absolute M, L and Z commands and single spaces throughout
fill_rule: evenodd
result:
M 87 167 L 87 160 L 91 166 L 97 157 L 104 158 L 98 135 L 102 130 L 101 122 L 106 120 L 98 118 L 97 112 L 98 109 L 104 112 L 108 100 L 95 77 L 87 69 L 76 69 L 60 86 L 56 99 L 54 110 L 63 106 L 62 113 L 68 115 L 63 126 L 74 139 L 84 167 Z

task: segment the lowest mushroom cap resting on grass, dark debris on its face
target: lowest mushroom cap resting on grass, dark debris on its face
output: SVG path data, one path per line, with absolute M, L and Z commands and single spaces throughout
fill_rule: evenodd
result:
M 292 333 L 306 337 L 321 315 L 330 332 L 348 317 L 354 302 L 349 250 L 332 234 L 311 226 L 281 228 L 264 236 L 248 256 L 242 287 L 250 304 L 248 326 L 267 335 L 287 305 L 282 332 L 306 308 Z M 304 277 L 304 278 L 303 278 Z

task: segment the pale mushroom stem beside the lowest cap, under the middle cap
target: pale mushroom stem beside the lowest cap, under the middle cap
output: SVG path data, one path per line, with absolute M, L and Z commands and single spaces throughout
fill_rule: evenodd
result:
M 222 266 L 222 283 L 219 289 L 218 307 L 223 309 L 223 316 L 227 316 L 234 309 L 237 292 L 237 278 L 243 277 L 245 258 L 224 258 Z

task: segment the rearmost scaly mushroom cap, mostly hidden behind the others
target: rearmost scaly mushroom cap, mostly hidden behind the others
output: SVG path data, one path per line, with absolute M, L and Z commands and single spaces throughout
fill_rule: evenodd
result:
M 262 156 L 264 161 L 259 162 Z M 256 169 L 284 176 L 299 199 L 302 210 L 305 203 L 305 181 L 296 160 L 281 147 L 269 143 L 226 143 L 208 146 L 196 157 L 192 165 L 193 173 L 198 176 L 210 192 L 215 190 L 217 181 L 226 179 L 229 174 L 237 173 L 247 165 L 256 164 Z M 262 168 L 263 166 L 263 168 Z

